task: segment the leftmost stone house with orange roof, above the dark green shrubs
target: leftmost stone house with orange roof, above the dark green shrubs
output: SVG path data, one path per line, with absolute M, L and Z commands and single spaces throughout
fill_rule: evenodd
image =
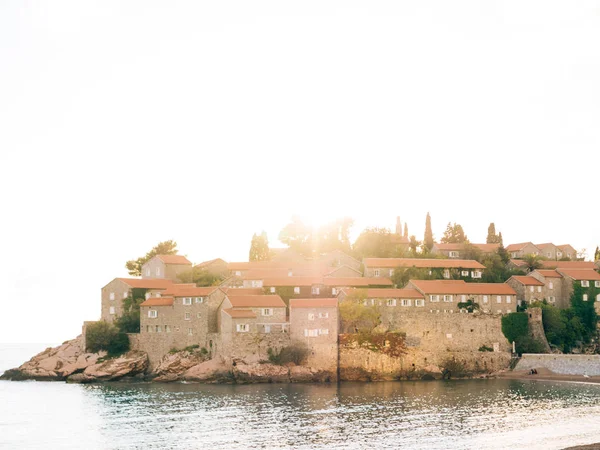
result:
M 112 323 L 120 317 L 123 314 L 123 299 L 132 293 L 132 289 L 143 290 L 144 296 L 156 296 L 172 284 L 167 279 L 115 278 L 102 288 L 100 318 Z

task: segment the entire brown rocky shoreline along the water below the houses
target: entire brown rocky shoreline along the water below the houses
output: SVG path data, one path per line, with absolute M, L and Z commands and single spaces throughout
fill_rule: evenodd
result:
M 130 351 L 110 358 L 105 352 L 87 353 L 79 336 L 54 348 L 47 348 L 18 368 L 0 376 L 1 380 L 66 381 L 98 383 L 105 381 L 199 382 L 199 383 L 310 383 L 337 381 L 334 372 L 293 363 L 246 364 L 208 359 L 200 351 L 172 352 L 150 369 L 148 355 Z

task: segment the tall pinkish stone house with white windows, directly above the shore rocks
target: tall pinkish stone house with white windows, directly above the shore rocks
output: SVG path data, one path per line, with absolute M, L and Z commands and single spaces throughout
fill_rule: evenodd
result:
M 291 343 L 308 349 L 309 366 L 337 371 L 338 323 L 336 298 L 290 300 Z

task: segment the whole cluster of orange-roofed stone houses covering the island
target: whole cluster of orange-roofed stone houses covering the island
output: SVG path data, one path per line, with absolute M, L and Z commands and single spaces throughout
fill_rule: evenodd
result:
M 496 244 L 479 247 L 482 252 L 497 250 Z M 141 278 L 116 278 L 102 288 L 102 320 L 114 322 L 123 314 L 124 299 L 142 295 L 145 301 L 140 306 L 137 337 L 141 349 L 160 355 L 197 345 L 235 360 L 265 355 L 269 348 L 302 344 L 310 351 L 312 362 L 323 366 L 335 358 L 340 332 L 338 301 L 348 297 L 378 306 L 382 323 L 393 330 L 406 314 L 475 311 L 501 315 L 516 311 L 523 302 L 544 299 L 564 308 L 569 306 L 576 283 L 585 289 L 600 288 L 595 263 L 561 261 L 562 255 L 574 252 L 570 246 L 526 243 L 507 249 L 514 256 L 509 264 L 516 268 L 524 268 L 517 258 L 529 254 L 520 252 L 544 252 L 553 257 L 543 262 L 543 268 L 513 276 L 505 283 L 481 283 L 486 267 L 460 259 L 460 246 L 454 244 L 436 244 L 435 251 L 446 256 L 439 259 L 358 261 L 334 251 L 307 260 L 285 249 L 273 252 L 270 261 L 227 263 L 215 259 L 193 266 L 180 255 L 157 255 L 142 267 Z M 438 271 L 443 279 L 410 279 L 401 288 L 394 286 L 394 271 L 412 267 L 426 273 Z M 192 269 L 219 275 L 222 281 L 211 287 L 179 282 L 179 277 Z M 583 292 L 588 292 L 585 289 Z M 584 301 L 600 305 L 600 294 L 595 298 L 582 295 Z

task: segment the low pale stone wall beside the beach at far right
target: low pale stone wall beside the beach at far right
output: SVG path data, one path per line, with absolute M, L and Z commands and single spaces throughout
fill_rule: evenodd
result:
M 561 375 L 600 375 L 600 355 L 540 355 L 525 353 L 515 370 L 546 368 Z

